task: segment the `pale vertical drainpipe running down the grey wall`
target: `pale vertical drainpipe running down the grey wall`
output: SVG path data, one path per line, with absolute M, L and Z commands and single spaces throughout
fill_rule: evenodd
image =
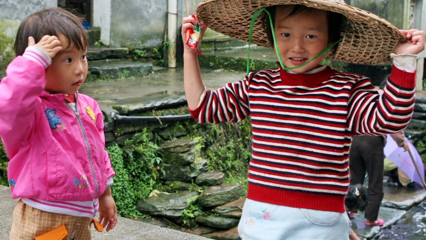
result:
M 176 29 L 178 21 L 178 0 L 168 0 L 167 38 L 169 41 L 168 67 L 176 67 Z

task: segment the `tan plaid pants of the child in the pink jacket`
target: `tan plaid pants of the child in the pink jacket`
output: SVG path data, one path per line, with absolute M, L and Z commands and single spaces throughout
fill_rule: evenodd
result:
M 66 214 L 55 214 L 32 208 L 19 200 L 12 216 L 12 229 L 10 240 L 34 240 L 35 237 L 44 234 L 54 228 L 65 224 L 69 239 L 76 231 L 74 240 L 90 240 L 90 221 L 87 217 L 75 217 Z

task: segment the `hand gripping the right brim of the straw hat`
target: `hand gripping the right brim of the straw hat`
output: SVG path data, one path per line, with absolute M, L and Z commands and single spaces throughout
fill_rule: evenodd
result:
M 398 43 L 395 54 L 418 54 L 425 49 L 425 32 L 417 29 L 400 30 L 408 39 Z

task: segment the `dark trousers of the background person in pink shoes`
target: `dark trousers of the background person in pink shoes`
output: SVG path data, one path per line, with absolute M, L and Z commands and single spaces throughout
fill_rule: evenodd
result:
M 375 221 L 383 199 L 383 136 L 358 136 L 352 139 L 349 151 L 351 184 L 363 184 L 368 173 L 367 207 L 364 217 Z

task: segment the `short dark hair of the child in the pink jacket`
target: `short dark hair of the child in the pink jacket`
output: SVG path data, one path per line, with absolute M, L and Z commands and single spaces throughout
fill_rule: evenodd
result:
M 16 56 L 24 53 L 30 36 L 37 43 L 44 35 L 58 37 L 62 34 L 68 40 L 67 48 L 74 44 L 78 50 L 86 49 L 88 39 L 81 25 L 83 20 L 84 18 L 77 13 L 59 7 L 43 9 L 29 15 L 21 22 L 16 34 L 13 46 Z

